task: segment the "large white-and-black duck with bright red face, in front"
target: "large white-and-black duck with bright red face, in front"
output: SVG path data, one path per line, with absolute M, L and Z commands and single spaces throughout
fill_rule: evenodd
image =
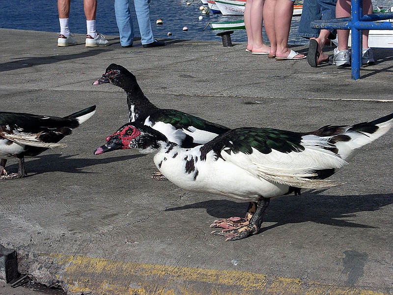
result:
M 270 198 L 301 188 L 339 185 L 332 176 L 359 148 L 385 134 L 393 114 L 352 126 L 325 126 L 298 133 L 272 128 L 237 128 L 195 148 L 181 148 L 156 130 L 127 123 L 94 154 L 137 148 L 155 152 L 154 163 L 171 182 L 189 191 L 249 201 L 244 218 L 216 220 L 210 227 L 226 240 L 258 233 Z

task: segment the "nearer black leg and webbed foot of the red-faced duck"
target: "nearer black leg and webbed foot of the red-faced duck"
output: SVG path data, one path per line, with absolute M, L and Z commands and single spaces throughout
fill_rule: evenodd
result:
M 213 231 L 211 234 L 225 236 L 225 241 L 234 241 L 257 234 L 261 228 L 263 215 L 269 206 L 270 199 L 261 197 L 257 203 L 255 213 L 249 220 L 248 225 L 244 225 L 232 230 Z M 249 206 L 250 208 L 251 206 Z

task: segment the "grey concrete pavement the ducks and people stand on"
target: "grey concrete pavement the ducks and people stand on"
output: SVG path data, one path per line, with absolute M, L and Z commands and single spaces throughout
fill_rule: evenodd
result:
M 376 64 L 352 81 L 350 68 L 276 61 L 221 40 L 124 49 L 107 36 L 111 46 L 85 48 L 77 35 L 81 45 L 60 48 L 56 33 L 0 36 L 1 111 L 66 116 L 97 105 L 66 148 L 27 159 L 28 177 L 0 181 L 0 244 L 17 250 L 21 273 L 73 295 L 393 294 L 392 130 L 334 176 L 346 184 L 274 199 L 258 235 L 225 242 L 210 223 L 247 204 L 150 179 L 152 155 L 93 155 L 128 115 L 121 89 L 92 86 L 114 62 L 158 107 L 307 131 L 392 113 L 393 50 L 375 49 Z

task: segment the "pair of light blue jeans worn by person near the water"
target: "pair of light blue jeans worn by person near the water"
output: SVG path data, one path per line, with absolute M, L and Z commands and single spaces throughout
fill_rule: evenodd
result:
M 128 46 L 134 39 L 134 25 L 130 12 L 130 0 L 114 0 L 114 13 L 120 33 L 120 44 Z M 142 44 L 154 42 L 153 29 L 150 22 L 150 0 L 134 0 L 138 26 Z

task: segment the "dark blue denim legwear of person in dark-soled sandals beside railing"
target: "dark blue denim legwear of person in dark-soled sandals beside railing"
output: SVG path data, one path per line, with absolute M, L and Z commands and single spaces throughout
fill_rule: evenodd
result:
M 297 35 L 318 38 L 319 29 L 311 29 L 311 22 L 336 18 L 336 2 L 337 0 L 304 0 Z M 335 34 L 334 29 L 329 31 Z

